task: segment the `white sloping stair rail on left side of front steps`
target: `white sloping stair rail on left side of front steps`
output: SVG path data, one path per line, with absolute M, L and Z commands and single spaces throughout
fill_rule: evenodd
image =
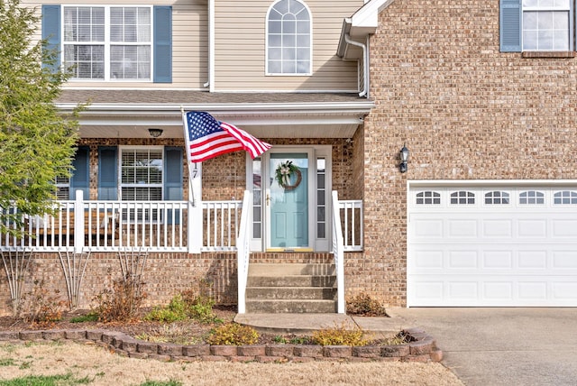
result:
M 244 190 L 243 207 L 251 207 L 252 193 L 249 190 Z M 246 312 L 246 282 L 249 275 L 249 259 L 251 256 L 250 236 L 251 216 L 250 210 L 244 210 L 241 217 L 241 226 L 236 245 L 237 271 L 238 271 L 238 313 L 244 314 Z

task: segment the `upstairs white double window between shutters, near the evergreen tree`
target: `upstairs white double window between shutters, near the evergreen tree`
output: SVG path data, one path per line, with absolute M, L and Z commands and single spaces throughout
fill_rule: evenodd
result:
M 150 6 L 64 6 L 62 20 L 72 78 L 151 80 Z

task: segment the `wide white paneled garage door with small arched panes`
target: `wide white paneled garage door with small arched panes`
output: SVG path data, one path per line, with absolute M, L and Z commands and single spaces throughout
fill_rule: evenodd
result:
M 577 307 L 577 187 L 411 185 L 408 306 Z

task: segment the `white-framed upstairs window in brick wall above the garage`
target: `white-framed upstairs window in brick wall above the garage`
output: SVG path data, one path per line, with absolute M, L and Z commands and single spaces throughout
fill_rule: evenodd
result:
M 523 0 L 523 51 L 570 51 L 572 0 Z

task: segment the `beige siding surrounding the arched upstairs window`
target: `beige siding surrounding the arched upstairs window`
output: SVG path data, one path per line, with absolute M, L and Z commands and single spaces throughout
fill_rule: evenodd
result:
M 270 0 L 218 1 L 215 7 L 215 89 L 218 91 L 357 91 L 356 62 L 335 54 L 344 17 L 361 0 L 310 0 L 313 19 L 312 76 L 265 76 L 265 30 Z M 242 76 L 241 76 L 242 75 Z

